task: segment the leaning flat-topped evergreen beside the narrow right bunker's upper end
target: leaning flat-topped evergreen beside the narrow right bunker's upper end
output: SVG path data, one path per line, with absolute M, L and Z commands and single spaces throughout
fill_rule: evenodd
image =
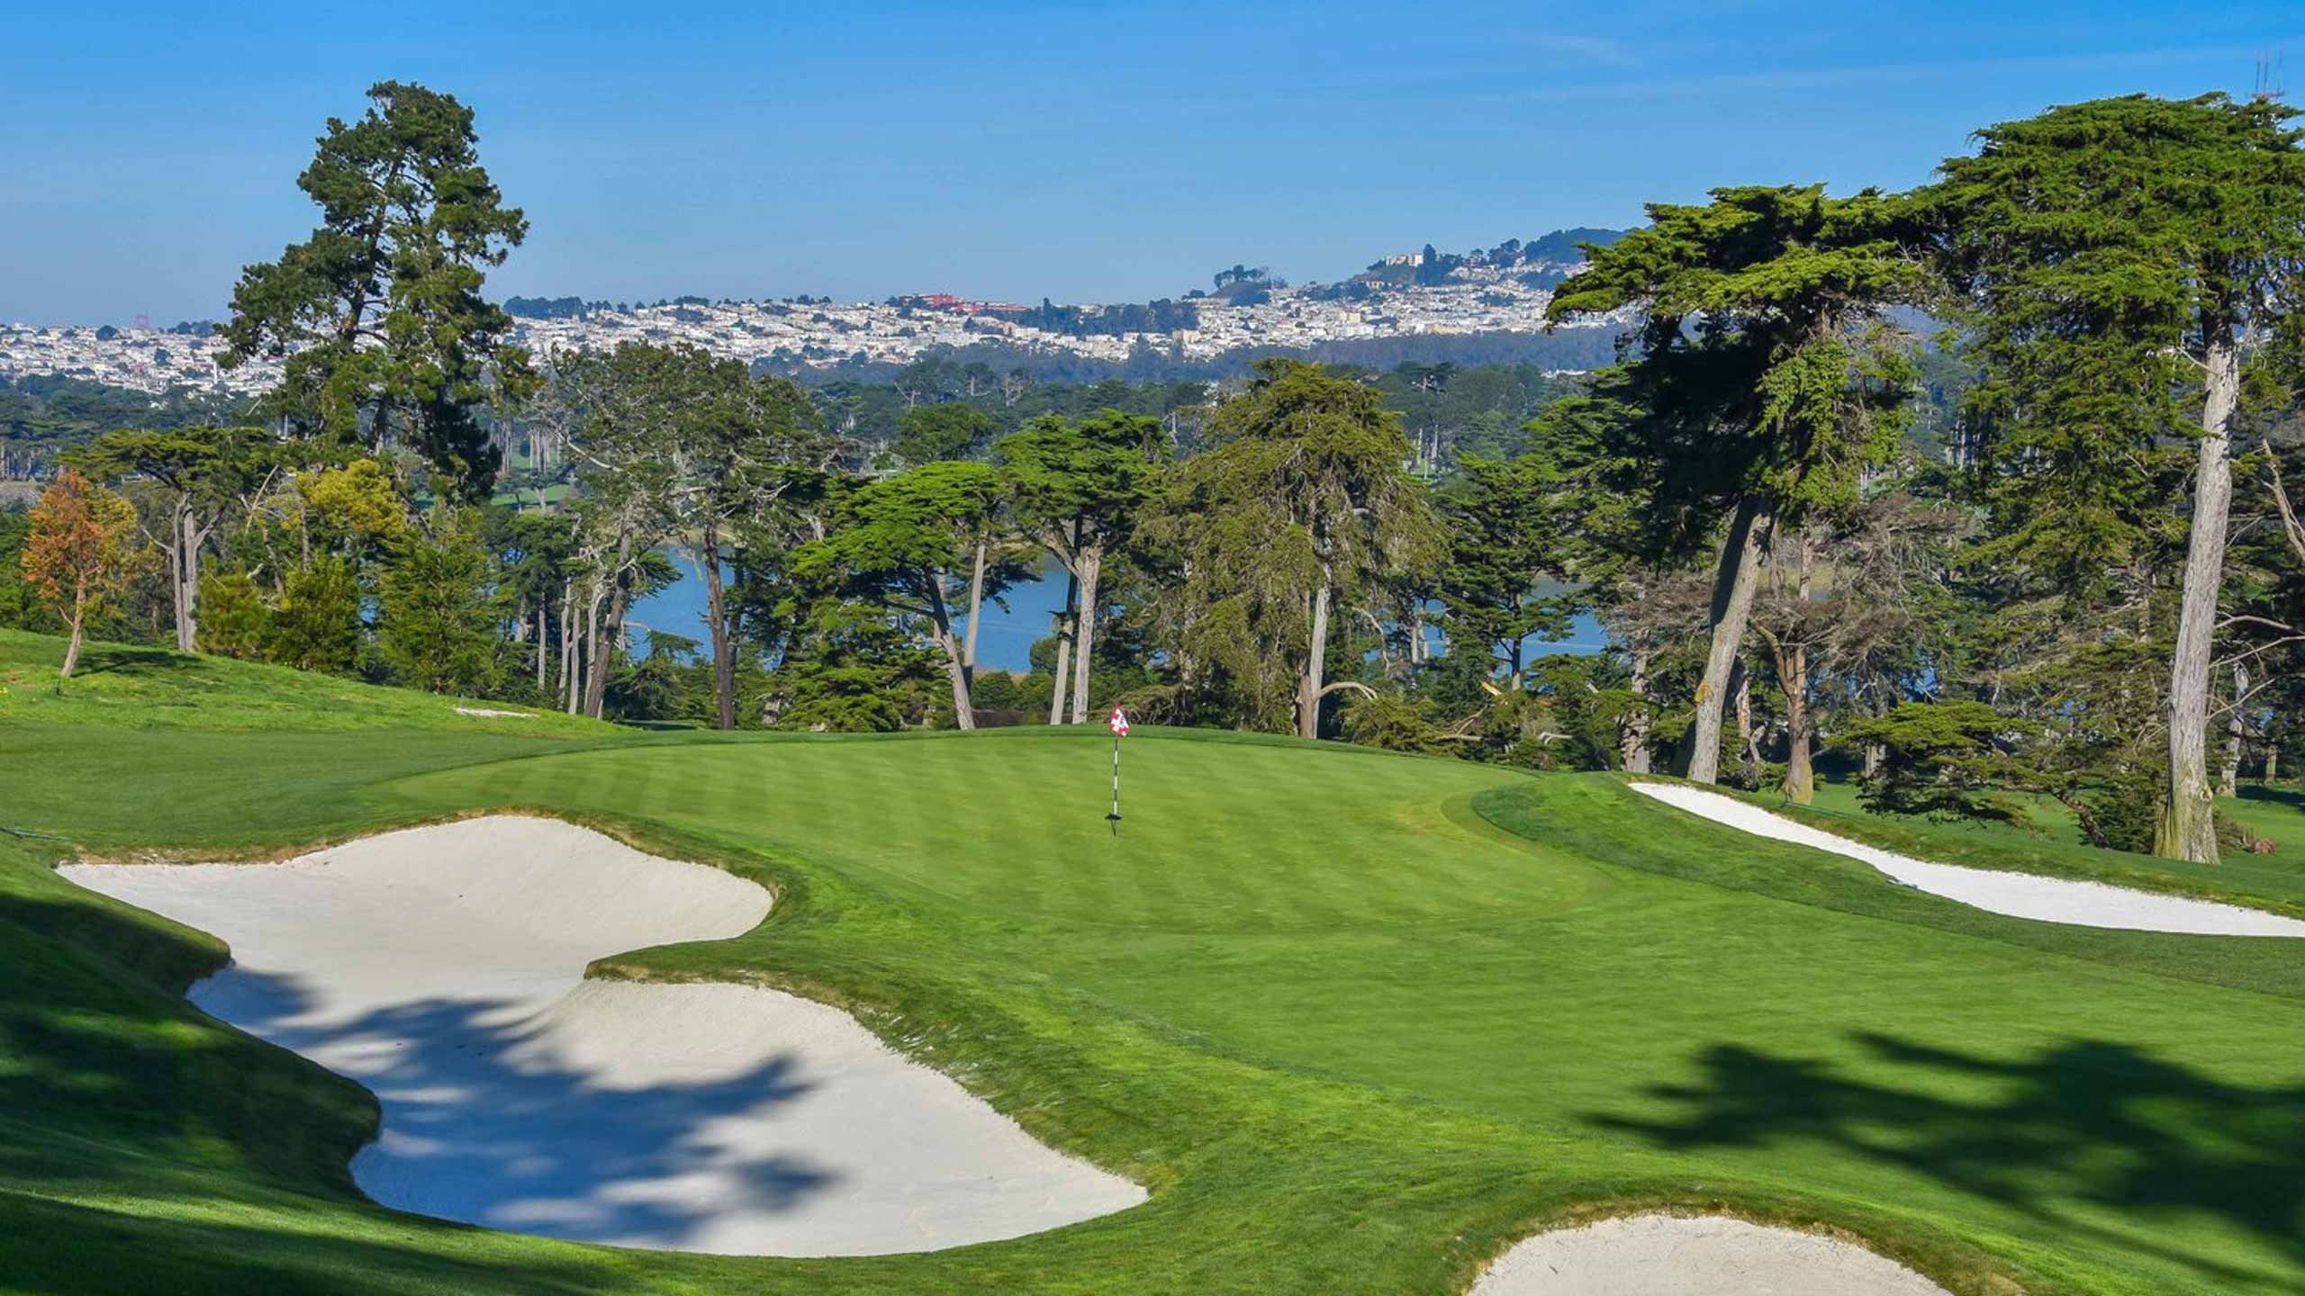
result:
M 1595 491 L 1643 498 L 1660 560 L 1726 523 L 1687 775 L 1720 775 L 1722 708 L 1761 553 L 1779 528 L 1846 510 L 1897 450 L 1911 360 L 1881 325 L 1927 295 L 1909 208 L 1865 189 L 1715 189 L 1708 205 L 1650 203 L 1648 228 L 1586 244 L 1547 318 L 1639 311 L 1637 357 L 1595 378 Z

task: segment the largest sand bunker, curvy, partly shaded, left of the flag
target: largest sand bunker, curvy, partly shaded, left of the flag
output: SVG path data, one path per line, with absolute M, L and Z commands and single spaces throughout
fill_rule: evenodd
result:
M 71 865 L 233 945 L 207 1012 L 366 1084 L 353 1176 L 403 1211 L 731 1254 L 1012 1238 L 1143 1201 L 853 1017 L 588 962 L 751 929 L 758 886 L 549 819 L 475 819 L 286 865 Z

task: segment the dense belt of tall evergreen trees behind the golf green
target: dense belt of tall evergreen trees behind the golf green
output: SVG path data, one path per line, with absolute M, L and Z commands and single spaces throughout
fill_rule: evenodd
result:
M 526 221 L 470 113 L 373 97 L 304 178 L 334 198 L 290 261 L 337 272 L 235 297 L 235 348 L 297 357 L 258 424 L 67 454 L 0 526 L 0 616 L 627 719 L 1120 703 L 1793 800 L 1842 763 L 1879 809 L 2033 793 L 2197 860 L 2240 844 L 2217 784 L 2296 743 L 2305 150 L 2275 104 L 2107 99 L 1985 129 L 1911 194 L 1653 205 L 1560 284 L 1560 323 L 1637 321 L 1574 387 L 938 357 L 809 392 L 689 348 L 509 348 L 477 288 Z M 696 636 L 632 625 L 673 549 Z M 1035 669 L 980 671 L 987 602 L 1049 570 Z M 1581 618 L 1604 650 L 1531 650 Z

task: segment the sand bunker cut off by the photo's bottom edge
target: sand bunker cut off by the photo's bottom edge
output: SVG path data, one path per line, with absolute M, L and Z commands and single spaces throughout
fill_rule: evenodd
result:
M 1537 1234 L 1471 1296 L 1945 1296 L 1856 1243 L 1722 1215 L 1627 1215 Z

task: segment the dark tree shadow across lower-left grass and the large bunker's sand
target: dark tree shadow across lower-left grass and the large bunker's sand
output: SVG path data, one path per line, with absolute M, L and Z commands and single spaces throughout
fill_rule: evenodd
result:
M 0 1137 L 5 1278 L 85 1291 L 380 1294 L 443 1280 L 470 1291 L 597 1289 L 599 1275 L 581 1266 L 514 1273 L 403 1243 L 274 1229 L 263 1215 L 244 1227 L 168 1218 L 177 1199 L 198 1211 L 242 1188 L 343 1201 L 353 1188 L 343 1158 L 373 1112 L 366 1093 L 187 1003 L 184 982 L 212 966 L 217 945 L 175 925 L 62 888 L 0 890 L 0 952 L 9 964 L 0 975 L 0 1125 L 14 1121 L 25 1135 Z M 228 969 L 198 994 L 293 1049 L 408 1038 L 376 1065 L 346 1070 L 392 1095 L 387 1130 L 426 1141 L 401 1158 L 410 1176 L 539 1215 L 498 1222 L 475 1211 L 468 1222 L 678 1248 L 731 1199 L 779 1211 L 837 1188 L 834 1174 L 798 1158 L 715 1141 L 715 1121 L 807 1093 L 793 1056 L 721 1068 L 696 1084 L 606 1088 L 567 1065 L 505 1058 L 532 1024 L 489 1024 L 498 1003 L 420 1001 L 307 1026 L 311 996 L 290 978 Z M 712 1174 L 710 1197 L 620 1195 L 620 1185 L 701 1167 Z M 219 1171 L 221 1183 L 210 1178 Z M 88 1204 L 106 1197 L 129 1206 Z M 108 1245 L 138 1259 L 118 1275 L 74 1259 Z

